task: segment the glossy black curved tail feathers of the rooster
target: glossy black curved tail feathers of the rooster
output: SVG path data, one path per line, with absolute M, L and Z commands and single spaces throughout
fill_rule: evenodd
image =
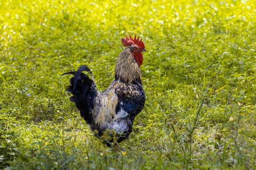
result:
M 88 75 L 84 74 L 83 71 L 87 71 L 91 74 L 92 79 Z M 72 93 L 70 101 L 76 104 L 76 107 L 80 110 L 81 116 L 88 123 L 92 123 L 92 117 L 90 110 L 93 109 L 93 100 L 97 95 L 97 88 L 95 86 L 94 77 L 92 72 L 87 66 L 80 66 L 77 71 L 64 73 L 63 75 L 71 74 L 74 75 L 70 79 L 70 86 L 67 87 L 66 91 Z

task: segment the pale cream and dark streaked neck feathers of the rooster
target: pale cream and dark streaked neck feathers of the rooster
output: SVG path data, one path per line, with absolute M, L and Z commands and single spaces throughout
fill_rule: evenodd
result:
M 141 70 L 130 53 L 129 46 L 119 54 L 115 67 L 115 80 L 124 81 L 128 84 L 141 84 Z

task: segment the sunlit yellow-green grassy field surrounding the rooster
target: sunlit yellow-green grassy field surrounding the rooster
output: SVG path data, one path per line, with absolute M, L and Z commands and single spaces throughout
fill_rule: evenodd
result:
M 0 169 L 256 169 L 254 0 L 0 0 Z M 113 152 L 65 92 L 139 35 L 146 104 Z

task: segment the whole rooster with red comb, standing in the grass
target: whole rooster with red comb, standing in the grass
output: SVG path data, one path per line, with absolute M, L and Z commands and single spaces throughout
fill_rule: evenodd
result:
M 94 135 L 104 139 L 108 147 L 128 138 L 132 124 L 145 104 L 145 92 L 141 85 L 142 52 L 146 51 L 139 36 L 122 38 L 126 48 L 119 54 L 115 65 L 115 80 L 100 92 L 88 66 L 80 66 L 72 74 L 66 91 L 72 93 L 70 101 L 76 104 Z M 89 74 L 83 73 L 83 71 Z M 91 78 L 88 77 L 90 75 Z M 105 137 L 103 137 L 105 136 Z M 114 141 L 115 140 L 115 141 Z

